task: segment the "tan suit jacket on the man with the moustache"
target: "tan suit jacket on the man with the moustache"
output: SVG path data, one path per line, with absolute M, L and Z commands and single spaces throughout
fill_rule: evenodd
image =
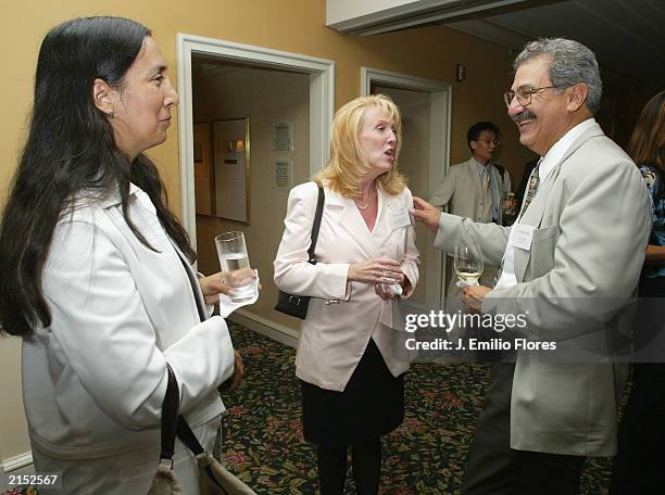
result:
M 639 170 L 594 125 L 550 173 L 520 221 L 535 231 L 530 250 L 515 248 L 518 283 L 490 292 L 484 312 L 529 310 L 528 328 L 541 337 L 560 342 L 584 338 L 578 325 L 582 315 L 605 316 L 606 308 L 594 301 L 627 299 L 635 292 L 651 231 L 650 212 Z M 487 261 L 498 264 L 510 231 L 442 214 L 436 245 L 450 251 L 457 240 L 474 239 Z M 615 454 L 616 403 L 625 371 L 613 361 L 544 363 L 520 352 L 513 380 L 511 447 Z

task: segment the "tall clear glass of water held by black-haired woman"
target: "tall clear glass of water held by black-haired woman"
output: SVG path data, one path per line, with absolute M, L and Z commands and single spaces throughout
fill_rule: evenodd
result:
M 241 303 L 252 299 L 255 295 L 253 270 L 249 264 L 244 234 L 237 231 L 221 233 L 215 237 L 215 246 L 224 283 L 234 291 L 230 300 Z

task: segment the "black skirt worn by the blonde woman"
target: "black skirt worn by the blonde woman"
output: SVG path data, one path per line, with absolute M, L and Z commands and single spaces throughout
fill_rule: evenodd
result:
M 391 432 L 404 420 L 404 375 L 394 378 L 372 339 L 343 392 L 301 382 L 308 442 L 350 445 Z

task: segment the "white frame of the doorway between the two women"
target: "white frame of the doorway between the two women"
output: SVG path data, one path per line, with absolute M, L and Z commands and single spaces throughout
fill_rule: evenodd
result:
M 192 248 L 197 248 L 195 204 L 192 54 L 208 54 L 235 62 L 298 71 L 310 75 L 310 173 L 321 170 L 330 153 L 330 126 L 335 106 L 335 63 L 326 59 L 234 43 L 215 38 L 178 33 L 177 73 L 180 104 L 178 143 L 180 163 L 180 208 L 183 225 Z

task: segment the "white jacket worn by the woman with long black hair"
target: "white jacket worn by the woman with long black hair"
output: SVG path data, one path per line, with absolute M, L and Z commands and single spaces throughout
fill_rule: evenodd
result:
M 77 460 L 98 459 L 98 471 L 89 475 L 99 480 L 89 481 L 115 481 L 103 487 L 88 483 L 87 490 L 99 488 L 90 493 L 135 493 L 123 491 L 125 478 L 136 477 L 137 459 L 133 466 L 122 462 L 131 452 L 156 452 L 145 459 L 145 470 L 154 474 L 167 361 L 179 383 L 180 411 L 192 428 L 223 411 L 216 388 L 234 368 L 224 319 L 200 321 L 180 257 L 152 202 L 134 185 L 128 207 L 158 252 L 129 230 L 117 194 L 62 215 L 42 277 L 52 322 L 23 343 L 36 468 L 61 470 L 64 479 Z M 84 474 L 71 473 L 68 482 L 77 475 Z M 76 492 L 64 482 L 65 493 Z

